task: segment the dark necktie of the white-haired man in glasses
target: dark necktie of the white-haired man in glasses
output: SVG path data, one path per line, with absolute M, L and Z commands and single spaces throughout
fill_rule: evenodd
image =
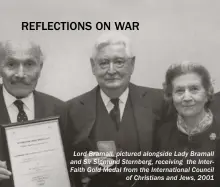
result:
M 119 130 L 120 125 L 120 109 L 119 109 L 119 99 L 111 99 L 111 102 L 114 105 L 114 108 L 110 111 L 110 116 L 112 120 L 114 121 L 117 130 Z

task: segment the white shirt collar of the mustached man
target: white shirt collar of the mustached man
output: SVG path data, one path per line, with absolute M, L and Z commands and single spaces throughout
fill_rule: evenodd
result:
M 10 107 L 14 104 L 14 102 L 17 100 L 16 97 L 12 96 L 3 86 L 3 96 L 5 100 L 6 107 Z M 21 99 L 24 103 L 24 107 L 26 107 L 28 110 L 32 111 L 34 109 L 34 95 L 33 92 L 30 93 L 27 97 L 24 97 Z

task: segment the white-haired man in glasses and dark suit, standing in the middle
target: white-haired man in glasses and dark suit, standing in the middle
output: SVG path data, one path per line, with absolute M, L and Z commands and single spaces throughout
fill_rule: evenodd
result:
M 100 145 L 112 151 L 116 147 L 117 152 L 151 151 L 154 124 L 162 117 L 163 94 L 159 89 L 130 83 L 135 56 L 132 54 L 129 39 L 117 32 L 103 34 L 94 46 L 90 61 L 98 86 L 68 101 L 63 117 L 69 160 L 83 159 L 82 156 L 73 157 L 74 152 L 100 151 Z M 85 158 L 88 157 L 84 155 Z M 128 161 L 150 159 L 142 154 L 127 154 L 119 158 Z M 77 168 L 76 165 L 71 166 Z M 97 164 L 84 166 L 87 169 L 86 174 L 77 171 L 73 174 L 78 186 L 82 185 L 81 181 L 94 187 L 145 186 L 143 181 L 134 178 L 126 180 L 126 177 L 139 175 L 140 167 L 149 167 L 148 164 L 127 163 L 118 165 L 118 168 L 122 167 L 118 173 L 92 173 L 88 168 L 95 168 Z M 138 170 L 128 173 L 125 172 L 125 167 Z M 80 177 L 81 181 L 78 180 Z

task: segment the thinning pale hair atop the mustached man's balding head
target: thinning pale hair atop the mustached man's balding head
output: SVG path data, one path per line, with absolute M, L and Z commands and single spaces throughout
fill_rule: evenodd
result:
M 11 52 L 11 50 L 29 49 L 32 55 L 40 62 L 43 63 L 44 55 L 40 46 L 32 41 L 11 41 L 6 40 L 0 42 L 0 61 L 4 60 Z

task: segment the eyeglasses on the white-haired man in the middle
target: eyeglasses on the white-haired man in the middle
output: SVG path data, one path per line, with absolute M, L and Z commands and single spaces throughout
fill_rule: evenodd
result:
M 132 58 L 113 58 L 113 59 L 99 59 L 98 65 L 102 69 L 108 69 L 110 67 L 111 62 L 116 68 L 123 68 L 125 63 Z

